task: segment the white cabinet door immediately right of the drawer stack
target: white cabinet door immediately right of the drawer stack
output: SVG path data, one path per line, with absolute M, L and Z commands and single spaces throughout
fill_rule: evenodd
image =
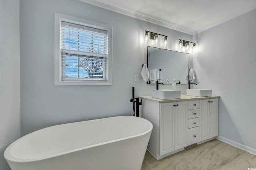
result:
M 200 100 L 199 141 L 209 139 L 209 99 Z

